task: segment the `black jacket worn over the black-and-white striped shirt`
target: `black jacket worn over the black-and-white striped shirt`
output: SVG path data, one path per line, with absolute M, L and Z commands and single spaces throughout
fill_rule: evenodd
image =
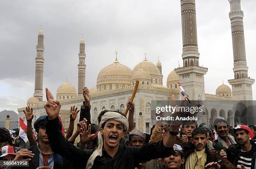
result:
M 252 146 L 252 148 L 254 147 L 253 151 L 256 152 L 256 144 L 252 140 L 250 140 L 250 143 L 251 145 L 254 145 Z M 241 149 L 242 147 L 240 144 L 232 144 L 226 150 L 228 160 L 235 166 L 237 166 L 238 159 L 240 158 Z M 253 164 L 253 161 L 252 161 L 252 164 Z

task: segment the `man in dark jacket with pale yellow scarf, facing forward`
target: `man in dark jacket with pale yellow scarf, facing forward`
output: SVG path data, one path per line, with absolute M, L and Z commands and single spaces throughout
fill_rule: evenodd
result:
M 185 169 L 236 169 L 228 160 L 222 159 L 214 149 L 208 149 L 207 132 L 202 127 L 198 127 L 192 132 L 192 145 L 187 145 L 187 159 Z M 191 144 L 188 142 L 188 144 Z

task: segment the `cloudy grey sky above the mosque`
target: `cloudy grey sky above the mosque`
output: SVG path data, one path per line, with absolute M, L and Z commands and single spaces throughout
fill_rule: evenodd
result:
M 256 1 L 241 0 L 248 76 L 256 79 Z M 233 79 L 228 0 L 196 0 L 200 66 L 205 92 Z M 86 86 L 115 60 L 133 69 L 144 53 L 162 62 L 164 85 L 182 61 L 180 0 L 5 0 L 0 5 L 0 111 L 17 112 L 33 96 L 38 31 L 44 30 L 44 88 L 56 96 L 67 78 L 77 88 L 79 40 L 86 47 Z M 182 63 L 182 62 L 181 62 Z M 231 87 L 231 86 L 230 86 Z M 44 94 L 45 95 L 45 94 Z M 253 96 L 256 87 L 253 85 Z M 45 99 L 45 96 L 44 96 Z

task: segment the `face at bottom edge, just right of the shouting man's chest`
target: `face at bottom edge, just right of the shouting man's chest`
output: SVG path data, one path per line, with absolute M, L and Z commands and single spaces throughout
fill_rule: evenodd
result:
M 184 162 L 185 159 L 181 157 L 179 152 L 175 152 L 169 157 L 164 158 L 164 167 L 165 169 L 180 169 Z

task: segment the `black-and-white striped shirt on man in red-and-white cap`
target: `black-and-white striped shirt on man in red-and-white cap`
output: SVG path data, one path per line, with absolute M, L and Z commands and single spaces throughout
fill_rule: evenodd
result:
M 237 162 L 237 167 L 241 167 L 241 164 L 243 164 L 243 166 L 246 169 L 251 169 L 251 162 L 252 162 L 252 157 L 253 157 L 253 153 L 254 153 L 254 147 L 251 147 L 251 150 L 248 152 L 240 152 L 240 157 L 238 159 Z

